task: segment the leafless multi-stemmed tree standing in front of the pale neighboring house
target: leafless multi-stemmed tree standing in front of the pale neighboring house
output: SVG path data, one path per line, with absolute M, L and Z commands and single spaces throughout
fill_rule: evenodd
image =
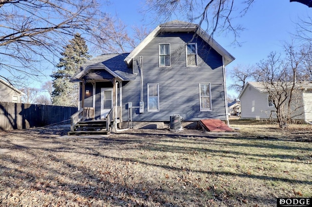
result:
M 307 53 L 293 45 L 286 45 L 285 52 L 285 58 L 276 52 L 270 53 L 267 60 L 258 64 L 257 69 L 259 81 L 268 91 L 276 109 L 274 115 L 280 127 L 292 123 L 304 113 L 296 77 Z

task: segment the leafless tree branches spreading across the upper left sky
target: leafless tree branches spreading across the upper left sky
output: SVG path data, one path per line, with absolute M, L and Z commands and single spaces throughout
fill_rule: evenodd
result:
M 1 0 L 1 73 L 15 80 L 38 78 L 38 64 L 53 62 L 77 32 L 102 39 L 110 18 L 99 6 L 96 0 Z

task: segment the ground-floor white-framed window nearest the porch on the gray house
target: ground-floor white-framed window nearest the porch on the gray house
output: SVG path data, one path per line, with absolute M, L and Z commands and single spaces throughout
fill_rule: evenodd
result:
M 147 111 L 159 111 L 159 84 L 147 85 Z

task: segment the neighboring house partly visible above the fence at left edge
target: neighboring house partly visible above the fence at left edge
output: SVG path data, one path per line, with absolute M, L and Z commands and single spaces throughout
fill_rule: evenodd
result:
M 0 102 L 20 103 L 20 97 L 25 95 L 19 89 L 0 79 Z

